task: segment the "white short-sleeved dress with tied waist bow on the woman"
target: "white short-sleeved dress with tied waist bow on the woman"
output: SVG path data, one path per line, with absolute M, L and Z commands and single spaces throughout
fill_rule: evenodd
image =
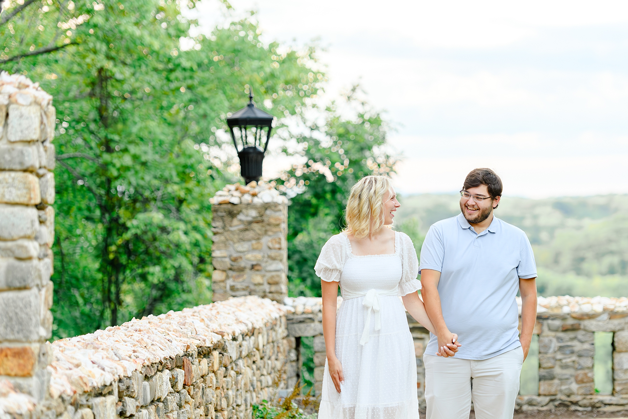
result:
M 355 256 L 344 233 L 323 246 L 315 271 L 340 281 L 343 298 L 335 351 L 344 384 L 338 393 L 325 361 L 318 419 L 418 419 L 414 344 L 399 298 L 421 288 L 418 268 L 402 232 L 393 254 Z

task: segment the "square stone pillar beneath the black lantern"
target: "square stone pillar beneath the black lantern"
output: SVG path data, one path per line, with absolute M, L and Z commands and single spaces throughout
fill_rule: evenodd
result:
M 270 183 L 227 185 L 212 204 L 214 301 L 288 296 L 288 200 Z

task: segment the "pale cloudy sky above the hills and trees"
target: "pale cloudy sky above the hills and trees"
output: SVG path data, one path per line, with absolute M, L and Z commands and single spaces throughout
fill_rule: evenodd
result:
M 230 3 L 257 10 L 266 41 L 317 38 L 328 95 L 359 82 L 386 111 L 399 193 L 457 192 L 475 167 L 504 195 L 628 193 L 628 2 Z M 198 9 L 222 19 L 215 0 Z

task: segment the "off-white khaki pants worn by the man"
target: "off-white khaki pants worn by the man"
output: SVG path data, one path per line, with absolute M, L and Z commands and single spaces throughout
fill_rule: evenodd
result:
M 424 355 L 426 419 L 512 419 L 523 364 L 520 347 L 475 361 Z

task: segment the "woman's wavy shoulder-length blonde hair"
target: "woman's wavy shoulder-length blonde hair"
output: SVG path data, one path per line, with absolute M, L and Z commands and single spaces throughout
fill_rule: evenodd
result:
M 365 176 L 351 188 L 343 232 L 353 234 L 356 239 L 369 236 L 384 226 L 384 195 L 393 191 L 387 176 Z

